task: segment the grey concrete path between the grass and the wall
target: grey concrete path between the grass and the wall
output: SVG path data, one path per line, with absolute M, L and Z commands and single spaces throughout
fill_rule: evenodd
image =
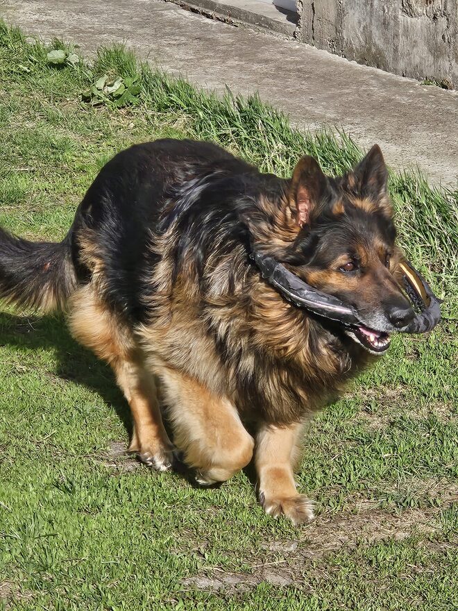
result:
M 0 15 L 27 33 L 76 42 L 83 53 L 122 41 L 204 87 L 259 90 L 298 126 L 339 126 L 363 147 L 378 142 L 393 167 L 418 165 L 431 181 L 457 186 L 457 92 L 158 0 L 1 0 Z

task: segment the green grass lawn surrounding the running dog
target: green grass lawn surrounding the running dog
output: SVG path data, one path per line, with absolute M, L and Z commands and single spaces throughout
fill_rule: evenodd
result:
M 211 139 L 283 175 L 305 152 L 328 172 L 361 156 L 343 135 L 302 135 L 256 98 L 221 101 L 119 48 L 91 68 L 46 51 L 1 26 L 0 224 L 26 237 L 61 239 L 96 172 L 134 142 Z M 0 608 L 457 608 L 458 194 L 395 173 L 391 193 L 444 318 L 427 337 L 396 337 L 316 418 L 298 483 L 318 517 L 300 528 L 266 517 L 245 474 L 194 489 L 126 457 L 110 369 L 61 317 L 3 306 Z

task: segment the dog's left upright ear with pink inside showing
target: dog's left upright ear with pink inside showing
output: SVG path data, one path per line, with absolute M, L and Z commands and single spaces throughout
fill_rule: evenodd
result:
M 328 195 L 330 184 L 318 163 L 308 155 L 300 158 L 288 192 L 289 208 L 298 226 L 309 224 L 314 209 Z

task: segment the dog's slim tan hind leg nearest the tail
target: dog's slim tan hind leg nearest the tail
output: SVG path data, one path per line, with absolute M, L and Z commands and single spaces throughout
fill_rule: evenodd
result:
M 116 375 L 134 420 L 129 450 L 135 451 L 150 467 L 159 471 L 169 469 L 173 446 L 162 423 L 154 378 L 143 365 L 133 334 L 97 298 L 92 285 L 72 296 L 69 328 L 78 342 L 108 361 Z

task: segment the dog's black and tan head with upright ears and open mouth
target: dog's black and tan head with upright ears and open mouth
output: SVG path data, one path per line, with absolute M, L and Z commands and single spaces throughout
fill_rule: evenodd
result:
M 389 347 L 389 333 L 415 316 L 396 281 L 396 246 L 387 167 L 374 146 L 345 176 L 329 178 L 305 156 L 294 169 L 286 206 L 295 237 L 282 260 L 312 287 L 352 306 L 361 325 L 343 327 L 371 353 Z

